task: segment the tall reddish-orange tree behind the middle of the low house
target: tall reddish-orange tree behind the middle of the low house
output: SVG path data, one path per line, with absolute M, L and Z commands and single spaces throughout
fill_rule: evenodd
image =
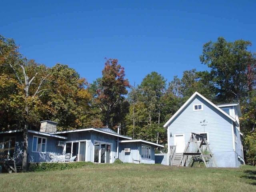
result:
M 102 111 L 106 127 L 110 126 L 114 108 L 118 104 L 120 105 L 120 101 L 124 99 L 123 96 L 128 93 L 127 88 L 130 87 L 130 84 L 127 79 L 124 79 L 124 76 L 124 68 L 118 64 L 117 59 L 106 59 L 102 78 L 97 79 L 92 85 L 94 89 L 97 89 L 94 93 L 95 102 Z

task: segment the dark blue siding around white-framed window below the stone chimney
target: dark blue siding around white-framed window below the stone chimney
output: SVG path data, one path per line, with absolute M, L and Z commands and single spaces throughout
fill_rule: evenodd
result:
M 33 136 L 40 136 L 40 137 L 47 138 L 45 153 L 32 152 Z M 29 162 L 50 162 L 51 161 L 50 153 L 53 153 L 56 155 L 62 155 L 63 147 L 56 146 L 56 142 L 58 140 L 61 140 L 61 139 L 55 138 L 55 137 L 48 137 L 48 136 L 42 136 L 42 135 L 38 135 L 38 134 L 28 133 Z

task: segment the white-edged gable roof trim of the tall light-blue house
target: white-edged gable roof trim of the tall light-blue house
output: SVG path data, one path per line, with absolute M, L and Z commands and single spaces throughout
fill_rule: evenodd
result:
M 208 99 L 206 99 L 204 96 L 202 96 L 200 93 L 195 92 L 183 105 L 181 108 L 179 108 L 179 110 L 164 124 L 164 128 L 167 128 L 168 125 L 170 124 L 170 122 L 172 122 L 172 120 L 174 120 L 174 118 L 176 118 L 176 116 L 178 116 L 182 110 L 184 108 L 186 108 L 186 106 L 188 106 L 188 104 L 196 97 L 199 96 L 200 98 L 202 98 L 203 100 L 205 100 L 208 104 L 210 104 L 211 106 L 213 106 L 214 108 L 216 108 L 219 112 L 221 112 L 222 114 L 224 114 L 225 116 L 227 116 L 228 118 L 230 118 L 235 124 L 236 126 L 238 125 L 238 122 L 229 114 L 227 114 L 226 112 L 224 112 L 221 108 L 219 108 L 218 106 L 216 106 L 214 103 L 210 102 Z

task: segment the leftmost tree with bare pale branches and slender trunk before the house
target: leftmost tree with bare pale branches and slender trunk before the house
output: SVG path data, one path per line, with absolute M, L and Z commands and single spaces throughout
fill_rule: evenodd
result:
M 28 161 L 28 129 L 30 126 L 30 109 L 33 107 L 33 103 L 41 96 L 44 89 L 41 89 L 42 84 L 46 81 L 48 73 L 43 73 L 38 76 L 37 68 L 33 72 L 29 71 L 30 62 L 18 52 L 18 46 L 16 46 L 13 39 L 6 39 L 4 36 L 0 36 L 0 64 L 1 66 L 8 67 L 9 71 L 12 71 L 13 77 L 16 78 L 22 92 L 20 93 L 23 100 L 21 111 L 24 138 L 24 154 L 22 160 L 22 169 L 27 170 Z M 47 71 L 47 69 L 46 69 Z M 31 76 L 30 76 L 31 74 Z M 36 78 L 39 78 L 38 84 L 35 86 Z M 32 92 L 33 90 L 33 92 Z

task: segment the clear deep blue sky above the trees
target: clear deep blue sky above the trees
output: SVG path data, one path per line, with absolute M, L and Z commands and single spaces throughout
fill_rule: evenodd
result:
M 169 81 L 184 70 L 208 70 L 202 46 L 223 36 L 250 40 L 256 51 L 256 1 L 1 2 L 0 34 L 40 64 L 68 64 L 88 82 L 117 58 L 130 84 L 156 71 Z

